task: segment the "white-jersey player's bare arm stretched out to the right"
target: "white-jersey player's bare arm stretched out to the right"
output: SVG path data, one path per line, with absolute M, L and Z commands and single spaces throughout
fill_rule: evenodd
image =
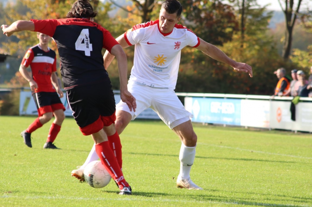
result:
M 236 71 L 249 73 L 249 76 L 252 77 L 252 68 L 250 65 L 232 60 L 225 53 L 223 53 L 219 48 L 217 48 L 216 46 L 212 44 L 207 43 L 206 41 L 200 39 L 200 44 L 196 49 L 202 51 L 203 53 L 205 53 L 206 55 L 210 56 L 211 58 L 217 61 L 224 62 L 230 65 Z

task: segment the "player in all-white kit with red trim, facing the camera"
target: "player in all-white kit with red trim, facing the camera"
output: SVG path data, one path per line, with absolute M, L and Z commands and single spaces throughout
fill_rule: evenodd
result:
M 227 63 L 236 71 L 249 73 L 250 77 L 252 69 L 245 63 L 235 62 L 217 47 L 198 38 L 191 30 L 178 25 L 181 12 L 180 2 L 167 0 L 162 4 L 159 20 L 135 25 L 116 39 L 123 48 L 135 45 L 128 90 L 136 98 L 137 108 L 135 112 L 130 111 L 126 104 L 119 102 L 116 106 L 115 127 L 120 134 L 143 110 L 152 108 L 182 141 L 177 186 L 202 190 L 190 179 L 197 143 L 190 120 L 193 115 L 184 108 L 174 92 L 181 50 L 186 46 L 197 48 L 211 58 Z M 113 59 L 113 55 L 105 53 L 106 69 Z M 96 159 L 98 158 L 93 148 L 85 163 L 72 171 L 72 176 L 80 179 L 85 165 Z

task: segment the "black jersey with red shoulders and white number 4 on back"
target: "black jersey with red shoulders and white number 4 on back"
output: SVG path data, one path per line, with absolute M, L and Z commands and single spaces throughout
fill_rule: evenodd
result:
M 65 89 L 99 83 L 108 77 L 102 48 L 118 44 L 108 30 L 88 19 L 34 20 L 35 30 L 51 36 L 61 59 Z

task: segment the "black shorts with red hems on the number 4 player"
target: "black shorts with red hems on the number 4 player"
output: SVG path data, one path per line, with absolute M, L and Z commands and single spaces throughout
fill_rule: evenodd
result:
M 84 135 L 100 131 L 105 123 L 101 117 L 113 117 L 115 123 L 115 98 L 110 84 L 106 79 L 100 84 L 75 87 L 67 90 L 68 104 L 73 116 Z M 101 122 L 101 126 L 99 125 Z

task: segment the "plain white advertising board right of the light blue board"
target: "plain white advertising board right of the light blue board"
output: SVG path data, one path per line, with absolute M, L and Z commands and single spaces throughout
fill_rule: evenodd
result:
M 267 100 L 241 100 L 241 126 L 270 127 L 270 103 Z

